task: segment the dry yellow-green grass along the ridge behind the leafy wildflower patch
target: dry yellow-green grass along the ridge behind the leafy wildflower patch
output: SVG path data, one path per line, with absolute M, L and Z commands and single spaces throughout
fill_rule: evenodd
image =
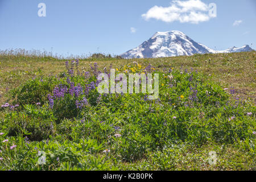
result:
M 38 56 L 6 56 L 0 55 L 0 101 L 5 100 L 6 89 L 15 88 L 28 78 L 41 75 L 58 74 L 65 70 L 63 59 Z M 193 56 L 166 57 L 158 59 L 80 59 L 80 68 L 89 69 L 89 65 L 98 63 L 104 67 L 119 68 L 137 61 L 141 64 L 152 64 L 157 68 L 181 67 L 193 68 L 224 88 L 233 86 L 241 97 L 256 98 L 255 93 L 255 61 L 256 52 L 205 54 Z M 256 100 L 255 100 L 256 101 Z

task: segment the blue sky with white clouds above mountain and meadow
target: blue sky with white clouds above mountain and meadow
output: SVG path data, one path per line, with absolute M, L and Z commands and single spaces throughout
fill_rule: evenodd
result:
M 216 3 L 217 16 L 184 20 L 181 16 L 192 5 L 184 4 L 187 1 L 0 0 L 0 49 L 119 55 L 139 46 L 157 31 L 171 30 L 182 31 L 216 50 L 245 44 L 256 49 L 255 0 L 189 0 L 196 2 L 200 11 L 203 4 Z M 46 17 L 38 16 L 39 3 L 46 4 Z M 185 12 L 175 16 L 177 3 L 184 4 Z

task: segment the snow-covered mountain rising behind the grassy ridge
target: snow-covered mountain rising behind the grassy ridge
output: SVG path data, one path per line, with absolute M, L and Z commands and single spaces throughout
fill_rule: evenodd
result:
M 123 58 L 154 58 L 193 55 L 195 53 L 228 53 L 253 51 L 248 45 L 240 48 L 230 48 L 225 51 L 215 51 L 203 44 L 196 43 L 183 32 L 156 32 L 150 39 L 140 46 L 120 55 Z

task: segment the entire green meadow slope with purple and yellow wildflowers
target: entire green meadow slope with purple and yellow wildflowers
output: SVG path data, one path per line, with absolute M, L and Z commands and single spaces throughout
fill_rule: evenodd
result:
M 255 170 L 255 53 L 0 55 L 0 169 Z M 110 67 L 159 73 L 159 100 L 98 94 Z

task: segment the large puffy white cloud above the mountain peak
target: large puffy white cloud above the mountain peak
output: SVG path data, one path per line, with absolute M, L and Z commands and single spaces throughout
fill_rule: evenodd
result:
M 143 14 L 146 20 L 151 18 L 162 20 L 163 22 L 179 21 L 180 23 L 199 23 L 206 22 L 210 18 L 216 17 L 209 14 L 209 6 L 200 0 L 172 1 L 168 7 L 154 6 Z

